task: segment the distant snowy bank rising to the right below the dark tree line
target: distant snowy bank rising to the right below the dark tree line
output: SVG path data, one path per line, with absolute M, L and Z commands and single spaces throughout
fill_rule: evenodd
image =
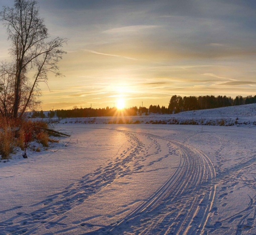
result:
M 47 119 L 47 118 L 45 118 Z M 58 118 L 52 118 L 58 121 Z M 154 114 L 141 116 L 101 116 L 101 117 L 81 117 L 63 118 L 60 123 L 97 123 L 97 124 L 198 124 L 198 125 L 237 125 L 255 126 L 256 125 L 256 103 L 212 108 L 203 110 L 193 110 L 176 114 Z

